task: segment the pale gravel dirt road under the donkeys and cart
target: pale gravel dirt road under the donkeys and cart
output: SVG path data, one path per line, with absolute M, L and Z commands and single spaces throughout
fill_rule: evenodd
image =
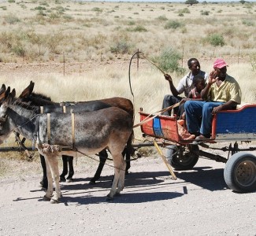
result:
M 96 164 L 95 164 L 96 168 Z M 1 180 L 1 235 L 256 235 L 255 193 L 227 189 L 224 164 L 199 159 L 177 180 L 159 157 L 132 162 L 121 197 L 106 201 L 113 169 L 88 185 L 94 168 L 76 168 L 62 202 L 42 201 L 40 176 Z

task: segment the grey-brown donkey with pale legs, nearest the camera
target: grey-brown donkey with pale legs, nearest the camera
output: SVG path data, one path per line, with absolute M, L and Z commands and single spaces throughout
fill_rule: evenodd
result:
M 0 144 L 12 131 L 35 142 L 35 147 L 46 160 L 48 187 L 44 200 L 60 201 L 59 155 L 90 155 L 106 148 L 112 154 L 114 164 L 114 179 L 107 199 L 113 200 L 114 195 L 121 193 L 126 165 L 122 152 L 133 129 L 133 118 L 128 112 L 109 107 L 94 112 L 36 114 L 16 105 L 14 95 L 15 90 L 8 94 L 0 107 Z

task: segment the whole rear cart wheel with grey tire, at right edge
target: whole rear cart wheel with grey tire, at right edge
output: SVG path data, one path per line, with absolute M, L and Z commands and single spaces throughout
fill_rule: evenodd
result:
M 256 157 L 250 153 L 236 153 L 224 168 L 224 180 L 228 187 L 239 193 L 256 190 Z

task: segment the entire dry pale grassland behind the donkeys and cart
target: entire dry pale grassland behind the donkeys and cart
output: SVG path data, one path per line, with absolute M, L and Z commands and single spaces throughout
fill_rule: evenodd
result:
M 20 94 L 33 80 L 35 92 L 54 101 L 129 98 L 135 104 L 136 124 L 140 107 L 146 112 L 161 109 L 169 85 L 150 63 L 140 60 L 137 71 L 134 61 L 133 98 L 128 81 L 129 59 L 138 49 L 155 57 L 171 46 L 183 54 L 180 65 L 186 69 L 190 57 L 197 57 L 206 72 L 210 72 L 216 57 L 224 57 L 230 65 L 228 74 L 239 81 L 243 101 L 256 102 L 255 72 L 250 61 L 256 54 L 255 11 L 254 3 L 239 2 L 196 6 L 166 2 L 0 2 L 1 83 L 16 88 Z M 165 25 L 173 25 L 173 21 L 178 27 L 166 29 Z M 206 38 L 213 34 L 223 36 L 224 46 L 207 42 Z M 69 62 L 65 76 L 59 69 L 64 53 L 65 62 Z M 81 61 L 71 69 L 72 63 Z M 13 62 L 17 68 L 10 66 Z M 46 62 L 50 72 L 35 68 L 35 62 Z M 28 69 L 21 70 L 27 64 Z M 10 68 L 8 72 L 6 67 Z M 181 76 L 172 76 L 177 84 Z M 135 128 L 135 137 L 141 138 L 139 127 Z M 5 146 L 14 144 L 8 141 Z M 0 175 L 11 168 L 9 160 L 18 157 L 23 161 L 17 153 L 9 155 L 11 158 L 2 154 L 7 159 L 1 159 Z

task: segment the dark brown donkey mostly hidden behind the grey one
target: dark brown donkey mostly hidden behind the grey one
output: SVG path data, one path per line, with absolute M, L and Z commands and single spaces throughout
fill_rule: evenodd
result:
M 32 83 L 31 81 L 29 86 L 26 89 L 24 89 L 24 91 L 20 94 L 19 96 L 20 101 L 27 101 L 27 102 L 30 102 L 32 105 L 41 105 L 41 106 L 42 105 L 58 105 L 58 106 L 64 105 L 65 107 L 68 107 L 69 105 L 83 105 L 84 109 L 86 109 L 83 112 L 104 109 L 106 108 L 106 106 L 115 106 L 115 107 L 124 109 L 124 111 L 130 114 L 130 116 L 132 117 L 134 116 L 132 101 L 128 100 L 127 98 L 115 97 L 115 98 L 106 98 L 106 99 L 101 99 L 96 101 L 90 101 L 90 103 L 88 103 L 88 101 L 80 101 L 80 102 L 62 102 L 60 104 L 60 103 L 51 101 L 50 98 L 47 98 L 43 94 L 32 93 L 32 90 L 34 89 L 34 85 L 35 83 Z M 102 104 L 102 108 L 100 108 L 99 102 Z M 133 140 L 133 131 L 132 131 L 131 137 L 128 139 L 127 148 L 124 149 L 124 152 L 123 152 L 127 161 L 126 173 L 128 173 L 128 169 L 131 167 L 130 157 L 132 154 L 132 140 Z M 100 178 L 102 169 L 108 157 L 108 154 L 106 153 L 106 149 L 102 150 L 100 153 L 98 153 L 98 155 L 99 155 L 100 161 L 98 164 L 97 171 L 95 172 L 94 177 L 90 181 L 91 184 L 95 184 L 95 182 Z M 40 156 L 40 158 L 41 158 L 41 164 L 42 164 L 43 173 L 44 173 L 43 174 L 44 181 L 42 181 L 41 183 L 43 183 L 43 185 L 46 186 L 46 165 L 43 157 Z M 74 175 L 73 157 L 63 155 L 62 161 L 63 161 L 63 171 L 60 175 L 60 178 L 61 178 L 61 181 L 65 181 L 65 175 L 68 174 L 68 164 L 69 164 L 69 175 L 67 177 L 67 181 L 69 182 L 69 180 L 72 179 L 72 175 Z

